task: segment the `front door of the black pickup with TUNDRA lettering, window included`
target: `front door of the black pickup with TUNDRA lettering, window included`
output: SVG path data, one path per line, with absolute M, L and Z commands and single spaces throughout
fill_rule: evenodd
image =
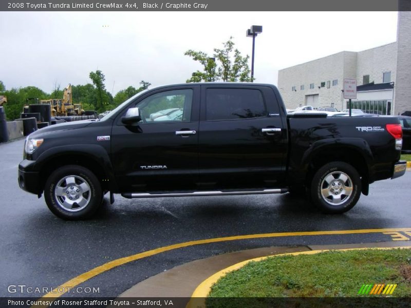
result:
M 129 108 L 142 120 L 116 118 L 111 161 L 122 192 L 189 189 L 198 180 L 199 86 L 148 92 Z

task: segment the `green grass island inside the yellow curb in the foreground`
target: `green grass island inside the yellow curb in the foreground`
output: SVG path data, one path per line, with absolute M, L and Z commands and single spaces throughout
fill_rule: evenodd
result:
M 411 296 L 411 249 L 270 257 L 220 278 L 209 297 L 376 297 L 358 292 L 377 283 L 398 284 L 390 296 Z

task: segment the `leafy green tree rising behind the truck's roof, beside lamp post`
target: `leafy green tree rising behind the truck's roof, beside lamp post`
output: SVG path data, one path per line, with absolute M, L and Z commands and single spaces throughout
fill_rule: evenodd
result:
M 214 48 L 213 57 L 209 57 L 203 51 L 187 50 L 184 55 L 200 62 L 203 71 L 193 72 L 191 78 L 186 82 L 213 82 L 218 80 L 224 82 L 251 82 L 251 71 L 248 66 L 250 56 L 242 56 L 238 49 L 234 49 L 235 44 L 232 38 L 230 36 L 230 40 L 222 44 L 223 48 Z M 219 65 L 217 65 L 217 62 Z

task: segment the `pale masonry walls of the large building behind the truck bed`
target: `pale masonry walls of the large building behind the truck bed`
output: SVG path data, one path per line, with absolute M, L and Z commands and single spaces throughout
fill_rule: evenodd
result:
M 357 85 L 363 84 L 363 76 L 369 75 L 369 82 L 383 82 L 383 73 L 391 72 L 390 82 L 395 83 L 393 92 L 387 98 L 393 101 L 393 114 L 411 110 L 411 12 L 398 12 L 397 42 L 371 48 L 360 52 L 343 51 L 304 64 L 278 71 L 278 89 L 286 107 L 294 109 L 306 104 L 306 95 L 319 95 L 320 106 L 345 109 L 346 100 L 342 99 L 344 78 L 356 78 Z M 332 80 L 338 86 L 332 86 Z M 330 81 L 330 88 L 319 88 L 321 82 Z M 314 89 L 310 89 L 314 83 Z M 301 90 L 300 86 L 305 89 Z M 296 91 L 292 91 L 295 86 Z M 365 94 L 362 94 L 364 97 Z M 364 100 L 371 100 L 364 97 Z M 376 94 L 378 95 L 378 94 Z M 360 99 L 358 99 L 360 100 Z M 361 99 L 362 100 L 362 99 Z

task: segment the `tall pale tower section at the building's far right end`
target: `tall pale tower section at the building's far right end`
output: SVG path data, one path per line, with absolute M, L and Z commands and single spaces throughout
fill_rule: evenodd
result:
M 398 12 L 394 114 L 411 110 L 411 12 Z

